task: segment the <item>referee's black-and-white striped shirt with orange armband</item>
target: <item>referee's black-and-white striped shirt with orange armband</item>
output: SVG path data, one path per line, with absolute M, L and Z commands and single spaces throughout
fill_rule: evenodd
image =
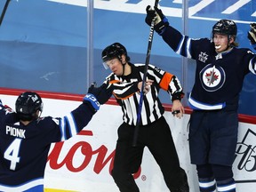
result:
M 139 111 L 140 90 L 138 83 L 144 76 L 145 64 L 132 64 L 132 73 L 128 76 L 116 76 L 111 73 L 105 80 L 104 84 L 113 84 L 113 94 L 122 107 L 123 120 L 126 124 L 136 125 L 137 112 Z M 179 79 L 160 68 L 148 65 L 148 79 L 154 81 L 149 92 L 143 96 L 141 108 L 140 125 L 150 124 L 159 119 L 164 114 L 164 107 L 158 98 L 160 88 L 168 92 L 172 100 L 180 100 L 184 93 Z

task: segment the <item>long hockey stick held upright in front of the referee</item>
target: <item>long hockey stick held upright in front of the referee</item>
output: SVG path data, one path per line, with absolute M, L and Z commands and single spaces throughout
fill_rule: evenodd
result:
M 158 2 L 159 2 L 159 0 L 155 1 L 154 7 L 157 7 Z M 145 83 L 146 83 L 147 74 L 148 74 L 148 64 L 149 64 L 150 52 L 151 52 L 152 41 L 153 41 L 153 36 L 154 36 L 154 25 L 155 25 L 155 20 L 152 20 L 151 26 L 150 26 L 150 31 L 149 31 L 149 36 L 148 36 L 148 50 L 147 50 L 145 68 L 144 68 L 144 75 L 143 75 L 142 85 L 141 85 L 141 89 L 140 89 L 140 102 L 139 102 L 139 108 L 138 108 L 138 112 L 137 112 L 138 113 L 137 114 L 137 122 L 136 122 L 136 126 L 134 129 L 133 140 L 132 140 L 133 147 L 137 146 L 137 140 L 138 140 L 138 135 L 139 135 L 141 109 L 142 109 L 142 104 L 143 104 L 144 88 L 145 88 Z

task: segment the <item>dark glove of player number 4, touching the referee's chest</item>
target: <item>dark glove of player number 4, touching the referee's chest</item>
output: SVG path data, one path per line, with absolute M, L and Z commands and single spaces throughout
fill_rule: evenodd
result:
M 92 93 L 100 104 L 104 104 L 111 97 L 113 92 L 113 85 L 101 84 L 100 87 L 96 87 L 96 84 L 92 84 L 88 89 L 88 93 Z

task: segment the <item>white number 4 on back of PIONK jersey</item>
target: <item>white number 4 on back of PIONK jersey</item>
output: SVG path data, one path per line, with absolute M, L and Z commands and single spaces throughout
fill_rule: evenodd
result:
M 11 161 L 10 170 L 16 169 L 16 164 L 20 162 L 19 150 L 21 139 L 15 139 L 11 145 L 5 150 L 4 158 Z

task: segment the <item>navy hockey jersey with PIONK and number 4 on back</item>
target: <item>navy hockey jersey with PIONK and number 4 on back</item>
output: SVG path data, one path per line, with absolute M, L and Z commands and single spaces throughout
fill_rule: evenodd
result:
M 51 144 L 80 132 L 95 110 L 84 101 L 62 118 L 40 117 L 21 124 L 0 103 L 0 191 L 44 191 L 44 168 Z

